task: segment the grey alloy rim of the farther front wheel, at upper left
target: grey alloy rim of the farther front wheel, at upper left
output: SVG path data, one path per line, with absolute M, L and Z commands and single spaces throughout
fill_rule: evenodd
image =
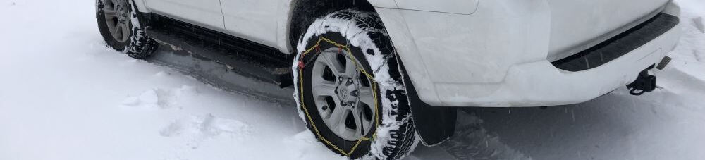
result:
M 106 0 L 103 3 L 105 23 L 110 35 L 117 42 L 127 42 L 130 38 L 130 4 L 126 0 Z

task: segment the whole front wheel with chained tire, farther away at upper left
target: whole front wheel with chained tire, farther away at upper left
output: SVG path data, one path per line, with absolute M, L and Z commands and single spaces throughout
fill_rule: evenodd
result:
M 147 37 L 132 0 L 96 0 L 98 30 L 108 47 L 135 59 L 157 51 L 159 44 Z

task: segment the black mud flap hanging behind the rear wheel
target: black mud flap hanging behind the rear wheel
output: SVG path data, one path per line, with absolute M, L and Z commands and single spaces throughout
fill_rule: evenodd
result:
M 455 107 L 431 106 L 421 101 L 416 88 L 411 82 L 404 64 L 400 61 L 404 73 L 404 83 L 411 105 L 416 133 L 425 146 L 435 146 L 446 142 L 455 133 L 455 121 L 458 109 Z

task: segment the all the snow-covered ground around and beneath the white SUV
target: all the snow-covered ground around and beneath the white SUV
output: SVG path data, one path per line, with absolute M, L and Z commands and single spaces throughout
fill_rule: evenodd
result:
M 705 159 L 705 1 L 679 1 L 685 35 L 656 92 L 465 109 L 452 140 L 408 159 Z M 107 49 L 93 5 L 0 0 L 0 159 L 344 159 L 292 104 Z

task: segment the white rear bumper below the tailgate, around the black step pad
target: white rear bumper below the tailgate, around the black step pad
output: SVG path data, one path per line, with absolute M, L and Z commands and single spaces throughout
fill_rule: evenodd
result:
M 613 61 L 589 70 L 560 70 L 549 61 L 535 61 L 510 67 L 505 80 L 497 84 L 438 84 L 439 98 L 446 106 L 556 106 L 589 101 L 633 82 L 639 72 L 663 59 L 680 38 L 680 27 L 656 37 Z M 486 85 L 496 86 L 491 94 L 464 97 Z M 625 87 L 626 89 L 626 87 Z

